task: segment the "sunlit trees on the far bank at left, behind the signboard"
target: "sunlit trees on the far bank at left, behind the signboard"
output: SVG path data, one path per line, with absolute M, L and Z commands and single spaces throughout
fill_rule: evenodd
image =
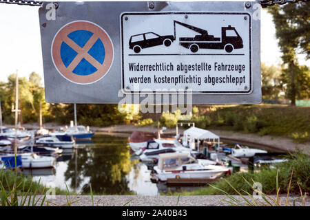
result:
M 15 103 L 16 75 L 8 76 L 8 83 L 0 82 L 0 98 L 3 121 L 14 124 L 12 107 Z M 39 122 L 40 105 L 44 122 L 69 124 L 74 119 L 73 104 L 50 104 L 45 102 L 44 88 L 39 74 L 32 72 L 29 78 L 19 78 L 19 109 L 21 124 Z M 127 105 L 131 107 L 131 105 Z M 137 122 L 141 115 L 137 111 L 118 111 L 116 104 L 78 104 L 78 123 L 91 126 L 110 126 L 123 122 Z

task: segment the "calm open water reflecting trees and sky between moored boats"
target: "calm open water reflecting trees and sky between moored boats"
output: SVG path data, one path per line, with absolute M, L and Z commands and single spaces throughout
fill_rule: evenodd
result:
M 94 135 L 91 143 L 76 144 L 57 158 L 52 169 L 24 170 L 32 172 L 34 181 L 46 186 L 75 192 L 105 195 L 158 195 L 156 184 L 150 181 L 147 166 L 131 159 L 128 136 Z

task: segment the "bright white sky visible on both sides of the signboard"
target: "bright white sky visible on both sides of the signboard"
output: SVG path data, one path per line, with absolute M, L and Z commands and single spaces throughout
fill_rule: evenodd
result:
M 0 81 L 6 82 L 8 76 L 17 71 L 20 77 L 37 72 L 43 80 L 38 10 L 39 7 L 0 4 Z M 271 15 L 261 10 L 260 57 L 267 65 L 281 63 L 275 34 Z M 304 57 L 298 56 L 299 63 L 310 65 Z

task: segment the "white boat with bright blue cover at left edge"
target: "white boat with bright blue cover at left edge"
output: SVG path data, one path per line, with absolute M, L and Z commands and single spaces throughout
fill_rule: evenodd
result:
M 7 168 L 15 168 L 14 154 L 1 157 Z M 17 167 L 22 168 L 49 168 L 53 167 L 56 159 L 54 157 L 39 156 L 36 153 L 18 153 L 16 155 Z

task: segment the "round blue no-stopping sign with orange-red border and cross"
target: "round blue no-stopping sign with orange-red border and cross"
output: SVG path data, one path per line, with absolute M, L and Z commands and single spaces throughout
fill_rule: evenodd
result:
M 77 84 L 100 80 L 109 72 L 114 58 L 110 36 L 90 21 L 64 25 L 54 36 L 51 54 L 61 76 Z

